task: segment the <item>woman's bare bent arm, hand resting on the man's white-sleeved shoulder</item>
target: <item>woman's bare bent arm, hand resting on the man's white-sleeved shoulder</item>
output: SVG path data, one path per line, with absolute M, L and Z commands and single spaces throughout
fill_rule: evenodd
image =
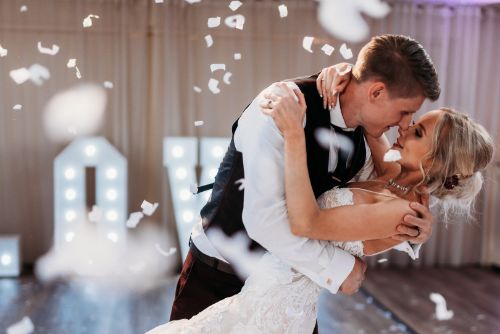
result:
M 292 233 L 336 241 L 383 239 L 398 234 L 396 226 L 403 216 L 414 214 L 404 200 L 319 209 L 307 169 L 302 128 L 306 110 L 304 96 L 284 84 L 281 89 L 285 93 L 282 97 L 272 97 L 271 111 L 264 108 L 265 104 L 262 107 L 273 117 L 285 138 L 285 192 Z

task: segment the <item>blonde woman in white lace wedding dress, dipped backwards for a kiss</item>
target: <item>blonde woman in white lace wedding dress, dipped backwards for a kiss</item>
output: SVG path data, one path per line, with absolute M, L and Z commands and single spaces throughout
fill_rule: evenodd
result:
M 396 226 L 402 218 L 413 212 L 409 202 L 422 203 L 430 194 L 443 202 L 445 210 L 469 212 L 482 186 L 481 171 L 492 159 L 493 141 L 467 115 L 441 108 L 426 113 L 408 130 L 400 130 L 392 146 L 401 156 L 397 162 L 384 162 L 390 148 L 385 137 L 367 136 L 378 178 L 331 189 L 316 201 L 302 127 L 304 96 L 286 84 L 278 85 L 283 94 L 268 96 L 272 103 L 266 103 L 268 109 L 263 112 L 273 118 L 285 139 L 286 203 L 294 234 L 332 242 L 355 256 L 374 255 L 407 245 L 393 236 L 399 233 Z M 386 201 L 391 211 L 381 210 L 379 204 Z M 240 293 L 189 320 L 169 322 L 148 334 L 311 333 L 320 290 L 309 278 L 266 253 Z

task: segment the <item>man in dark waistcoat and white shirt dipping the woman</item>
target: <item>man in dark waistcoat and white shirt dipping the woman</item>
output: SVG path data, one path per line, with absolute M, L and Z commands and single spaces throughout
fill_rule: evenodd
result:
M 372 38 L 361 50 L 353 78 L 330 112 L 316 90 L 316 76 L 296 79 L 307 103 L 307 160 L 316 197 L 351 179 L 364 180 L 370 170 L 370 150 L 364 134 L 379 137 L 392 126 L 407 129 L 425 98 L 436 100 L 440 88 L 429 56 L 415 40 L 396 35 Z M 355 293 L 364 279 L 365 264 L 328 242 L 293 235 L 287 220 L 284 189 L 283 137 L 273 120 L 261 112 L 261 92 L 233 125 L 233 138 L 219 167 L 211 199 L 193 228 L 190 252 L 177 284 L 171 320 L 190 318 L 241 290 L 242 281 L 210 242 L 206 231 L 227 235 L 246 231 L 252 249 L 265 248 L 332 293 Z M 323 149 L 315 131 L 326 128 L 349 137 L 354 152 L 346 157 L 336 146 Z M 236 181 L 244 178 L 245 189 Z M 405 240 L 423 243 L 431 233 L 428 208 L 412 203 L 419 218 L 406 216 L 398 227 Z

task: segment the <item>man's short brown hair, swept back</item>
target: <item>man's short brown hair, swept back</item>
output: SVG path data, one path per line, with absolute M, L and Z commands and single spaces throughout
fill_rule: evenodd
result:
M 431 58 L 420 43 L 403 35 L 373 37 L 361 49 L 353 75 L 360 82 L 383 82 L 393 97 L 424 95 L 435 101 L 441 93 Z

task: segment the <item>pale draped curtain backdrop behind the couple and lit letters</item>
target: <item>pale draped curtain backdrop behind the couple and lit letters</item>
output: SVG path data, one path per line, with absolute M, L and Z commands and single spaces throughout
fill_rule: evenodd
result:
M 52 243 L 52 161 L 66 143 L 49 141 L 42 113 L 54 93 L 79 82 L 73 69 L 66 68 L 69 58 L 78 59 L 82 80 L 114 83 L 97 135 L 108 138 L 128 159 L 129 212 L 137 211 L 143 199 L 160 202 L 160 212 L 141 225 L 163 226 L 164 235 L 159 237 L 164 239 L 176 232 L 162 166 L 163 137 L 229 137 L 232 122 L 268 84 L 343 61 L 338 52 L 342 41 L 327 35 L 317 22 L 316 1 L 286 1 L 289 15 L 284 19 L 277 9 L 280 1 L 245 1 L 237 11 L 246 17 L 242 31 L 223 22 L 207 28 L 209 17 L 221 16 L 223 21 L 235 14 L 228 3 L 47 0 L 29 2 L 28 11 L 20 13 L 20 1 L 0 1 L 0 44 L 9 49 L 8 56 L 0 58 L 0 234 L 21 234 L 25 262 L 36 260 Z M 88 14 L 100 19 L 83 29 Z M 443 95 L 422 111 L 456 107 L 484 124 L 498 143 L 498 16 L 493 7 L 396 1 L 388 17 L 369 22 L 372 35 L 416 38 L 435 61 Z M 207 34 L 214 40 L 211 48 L 205 44 Z M 314 53 L 302 48 L 304 36 L 315 37 Z M 58 44 L 61 51 L 53 57 L 41 55 L 38 41 Z M 320 51 L 324 43 L 336 48 L 332 56 Z M 354 54 L 362 44 L 350 45 Z M 236 52 L 242 54 L 241 60 L 233 59 Z M 11 69 L 37 62 L 51 71 L 43 86 L 18 86 L 10 79 Z M 212 63 L 226 64 L 233 73 L 230 85 L 222 82 L 220 73 L 210 72 Z M 218 95 L 208 90 L 211 77 L 220 81 Z M 194 92 L 193 86 L 202 88 L 202 93 Z M 24 106 L 22 111 L 12 110 L 17 103 Z M 194 127 L 195 120 L 204 125 Z M 487 180 L 477 223 L 466 225 L 457 217 L 446 229 L 438 222 L 416 265 L 478 263 L 485 258 L 481 245 L 487 236 L 482 231 L 495 223 L 488 191 L 498 182 L 493 176 Z M 485 220 L 487 212 L 490 218 Z M 409 263 L 396 253 L 389 259 L 389 264 Z

